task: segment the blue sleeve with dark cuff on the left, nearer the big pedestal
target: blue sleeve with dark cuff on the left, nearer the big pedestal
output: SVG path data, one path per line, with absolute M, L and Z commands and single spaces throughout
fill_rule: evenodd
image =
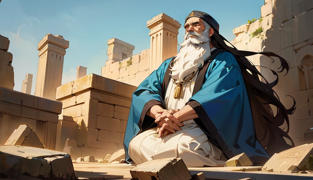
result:
M 172 58 L 165 60 L 161 66 L 153 71 L 133 92 L 131 100 L 131 108 L 129 111 L 125 137 L 124 149 L 126 160 L 129 159 L 128 146 L 133 137 L 135 137 L 140 130 L 147 130 L 151 128 L 154 119 L 146 116 L 147 111 L 154 105 L 159 104 L 165 107 L 162 99 L 162 83 Z M 153 121 L 153 123 L 152 123 Z

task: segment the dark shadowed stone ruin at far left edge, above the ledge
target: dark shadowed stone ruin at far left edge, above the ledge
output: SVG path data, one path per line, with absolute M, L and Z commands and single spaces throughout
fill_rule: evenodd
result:
M 13 90 L 14 73 L 12 64 L 12 54 L 9 49 L 9 39 L 0 35 L 0 87 Z

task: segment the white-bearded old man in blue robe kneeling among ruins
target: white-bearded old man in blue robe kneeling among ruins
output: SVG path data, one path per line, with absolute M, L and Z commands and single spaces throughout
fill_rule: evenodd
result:
M 126 161 L 181 157 L 187 167 L 224 166 L 244 152 L 261 165 L 293 147 L 287 133 L 295 102 L 286 109 L 272 89 L 278 78 L 268 83 L 245 56 L 278 57 L 280 72 L 288 72 L 287 61 L 271 52 L 228 46 L 217 21 L 204 12 L 191 12 L 184 28 L 177 56 L 165 60 L 133 93 Z M 279 128 L 284 123 L 285 131 Z

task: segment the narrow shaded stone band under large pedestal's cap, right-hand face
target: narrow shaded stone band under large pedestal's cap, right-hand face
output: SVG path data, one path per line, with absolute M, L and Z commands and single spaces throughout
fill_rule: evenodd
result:
M 119 98 L 112 95 L 102 94 L 100 92 L 93 91 L 90 93 L 90 97 L 99 100 L 99 102 L 131 107 L 131 99 Z

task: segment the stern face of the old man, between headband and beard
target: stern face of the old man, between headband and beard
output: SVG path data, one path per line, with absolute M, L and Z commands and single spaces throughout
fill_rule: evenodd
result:
M 186 35 L 190 32 L 196 32 L 198 34 L 201 35 L 202 31 L 205 30 L 205 26 L 204 26 L 204 23 L 203 23 L 203 20 L 200 19 L 199 17 L 191 17 L 189 18 L 185 25 L 184 25 L 184 28 L 186 30 Z M 195 35 L 189 35 L 187 37 L 188 38 L 195 38 Z

